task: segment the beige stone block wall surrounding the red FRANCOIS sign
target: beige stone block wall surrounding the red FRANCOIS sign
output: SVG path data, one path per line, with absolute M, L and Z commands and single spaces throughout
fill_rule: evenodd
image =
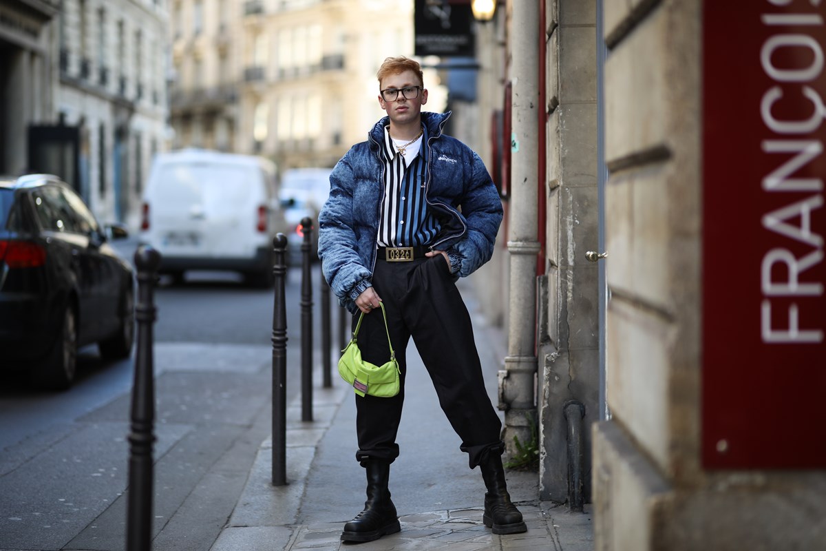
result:
M 702 2 L 604 6 L 611 418 L 594 429 L 596 549 L 826 549 L 823 472 L 700 464 Z

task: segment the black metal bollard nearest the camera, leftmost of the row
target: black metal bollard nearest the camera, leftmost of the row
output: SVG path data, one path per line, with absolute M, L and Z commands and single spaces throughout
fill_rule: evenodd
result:
M 155 321 L 153 287 L 159 264 L 158 251 L 143 245 L 135 251 L 135 266 L 138 268 L 138 301 L 135 304 L 138 340 L 129 433 L 127 551 L 149 551 L 152 545 L 152 448 L 155 441 L 152 324 Z

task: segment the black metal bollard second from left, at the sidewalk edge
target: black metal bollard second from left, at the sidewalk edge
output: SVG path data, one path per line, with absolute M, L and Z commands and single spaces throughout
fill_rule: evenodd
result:
M 273 486 L 287 484 L 287 237 L 273 239 L 275 301 L 273 302 Z

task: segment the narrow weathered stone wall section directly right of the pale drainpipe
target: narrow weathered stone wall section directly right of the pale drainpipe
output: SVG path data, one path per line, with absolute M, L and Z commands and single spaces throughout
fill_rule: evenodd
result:
M 540 497 L 567 499 L 569 400 L 599 419 L 598 266 L 586 251 L 598 241 L 596 164 L 596 2 L 546 2 L 545 275 L 539 298 Z M 591 439 L 583 442 L 586 501 Z

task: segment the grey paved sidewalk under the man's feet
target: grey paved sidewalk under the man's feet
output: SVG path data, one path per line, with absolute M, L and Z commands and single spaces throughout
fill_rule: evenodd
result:
M 474 316 L 472 291 L 461 286 L 474 318 L 488 392 L 496 404 L 496 372 L 504 358 L 501 330 Z M 439 408 L 415 346 L 408 348 L 406 401 L 393 463 L 390 490 L 401 532 L 366 544 L 364 551 L 402 549 L 475 551 L 519 549 L 591 551 L 590 506 L 571 513 L 567 506 L 539 501 L 539 475 L 508 471 L 511 498 L 528 525 L 525 534 L 494 535 L 482 524 L 485 487 L 478 468 L 468 468 L 459 439 Z M 318 365 L 320 362 L 316 362 Z M 211 551 L 253 549 L 355 549 L 339 542 L 345 522 L 361 511 L 366 481 L 355 461 L 353 391 L 333 365 L 332 388 L 316 387 L 312 422 L 301 421 L 300 389 L 287 408 L 287 486 L 273 487 L 271 439 L 255 458 L 235 511 Z M 320 381 L 320 373 L 315 374 Z

